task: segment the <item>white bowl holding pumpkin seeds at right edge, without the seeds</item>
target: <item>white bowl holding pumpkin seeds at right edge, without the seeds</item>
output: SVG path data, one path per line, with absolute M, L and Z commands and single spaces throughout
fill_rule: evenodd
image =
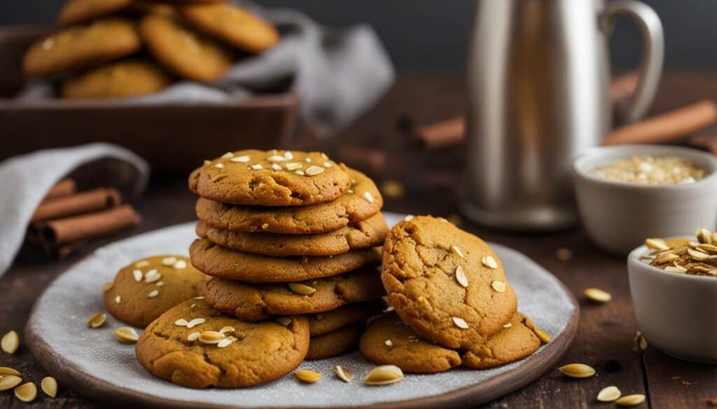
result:
M 674 357 L 717 364 L 717 277 L 673 273 L 627 256 L 635 318 L 650 346 Z

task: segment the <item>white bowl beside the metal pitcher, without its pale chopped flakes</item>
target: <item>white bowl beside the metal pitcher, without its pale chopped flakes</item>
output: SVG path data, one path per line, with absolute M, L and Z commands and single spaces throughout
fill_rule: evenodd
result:
M 594 170 L 634 155 L 678 156 L 708 175 L 683 185 L 608 181 Z M 717 158 L 701 150 L 665 145 L 594 148 L 573 162 L 578 208 L 588 236 L 602 249 L 627 254 L 648 237 L 693 236 L 717 221 Z

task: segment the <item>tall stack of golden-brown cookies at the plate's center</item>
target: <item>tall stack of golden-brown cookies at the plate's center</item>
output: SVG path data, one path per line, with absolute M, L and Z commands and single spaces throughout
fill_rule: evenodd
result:
M 209 306 L 245 322 L 307 314 L 309 360 L 358 345 L 385 294 L 388 228 L 371 179 L 323 153 L 242 150 L 207 160 L 189 187 Z

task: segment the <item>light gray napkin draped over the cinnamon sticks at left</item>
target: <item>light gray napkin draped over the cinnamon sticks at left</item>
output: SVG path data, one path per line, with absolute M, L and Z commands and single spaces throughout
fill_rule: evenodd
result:
M 50 188 L 73 170 L 91 165 L 93 173 L 108 175 L 105 186 L 125 195 L 144 191 L 149 165 L 125 148 L 93 143 L 76 148 L 39 150 L 0 162 L 0 276 L 22 246 L 32 214 Z

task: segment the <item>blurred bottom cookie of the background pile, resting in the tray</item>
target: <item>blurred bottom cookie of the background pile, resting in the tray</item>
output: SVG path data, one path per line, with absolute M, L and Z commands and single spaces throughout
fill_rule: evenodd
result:
M 62 83 L 69 99 L 134 97 L 163 90 L 171 79 L 152 62 L 114 62 L 70 77 Z

